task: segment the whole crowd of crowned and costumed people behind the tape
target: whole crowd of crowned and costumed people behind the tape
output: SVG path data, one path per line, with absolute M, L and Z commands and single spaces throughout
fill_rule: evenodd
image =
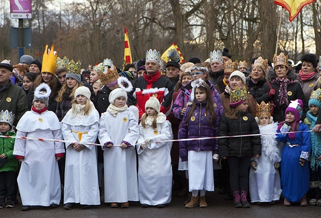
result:
M 88 69 L 46 45 L 42 63 L 0 63 L 0 209 L 186 208 L 219 189 L 235 208 L 321 206 L 321 64 L 314 54 L 164 64 L 150 49 L 121 71 Z M 217 138 L 218 137 L 218 138 Z M 173 140 L 174 139 L 174 140 Z M 215 181 L 215 185 L 214 185 Z M 308 197 L 308 201 L 306 198 Z

